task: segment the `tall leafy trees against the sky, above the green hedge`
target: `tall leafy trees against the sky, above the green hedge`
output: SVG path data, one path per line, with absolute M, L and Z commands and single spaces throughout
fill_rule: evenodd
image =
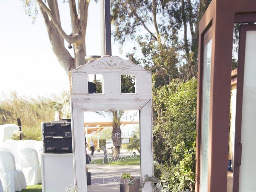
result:
M 130 39 L 136 40 L 140 50 L 134 48 L 134 52 L 127 56 L 156 70 L 158 78 L 161 77 L 166 85 L 166 75 L 176 78 L 177 69 L 181 79 L 189 80 L 197 74 L 199 21 L 210 2 L 211 0 L 112 0 L 114 39 L 120 44 Z M 142 53 L 142 58 L 138 52 Z M 164 65 L 174 71 L 167 70 L 167 74 L 163 73 L 158 66 L 158 58 L 164 60 Z M 158 84 L 163 83 L 159 81 Z

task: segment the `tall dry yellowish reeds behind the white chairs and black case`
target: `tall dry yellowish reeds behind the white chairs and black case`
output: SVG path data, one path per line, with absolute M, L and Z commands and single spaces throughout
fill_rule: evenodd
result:
M 69 103 L 68 92 L 64 92 L 61 96 L 53 95 L 50 98 L 21 97 L 16 92 L 2 93 L 0 124 L 17 124 L 17 118 L 20 118 L 24 139 L 42 140 L 41 122 L 54 120 L 55 112 L 62 116 L 62 107 L 66 103 Z

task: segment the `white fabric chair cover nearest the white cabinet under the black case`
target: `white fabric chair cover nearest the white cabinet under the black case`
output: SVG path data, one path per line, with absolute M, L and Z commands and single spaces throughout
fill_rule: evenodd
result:
M 20 167 L 26 178 L 27 185 L 41 183 L 41 168 L 36 150 L 22 148 L 19 150 Z

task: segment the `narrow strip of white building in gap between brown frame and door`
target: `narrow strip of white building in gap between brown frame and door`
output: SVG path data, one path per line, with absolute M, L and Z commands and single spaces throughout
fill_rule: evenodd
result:
M 235 144 L 235 126 L 236 126 L 236 82 L 237 69 L 231 74 L 231 97 L 230 97 L 230 134 L 229 134 L 229 159 L 231 160 L 231 169 L 233 170 L 234 144 Z

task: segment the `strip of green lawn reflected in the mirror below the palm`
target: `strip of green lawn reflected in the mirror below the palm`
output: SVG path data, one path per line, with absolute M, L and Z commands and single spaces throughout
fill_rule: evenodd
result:
M 103 164 L 103 158 L 97 159 L 95 161 L 96 161 L 95 163 L 92 161 L 91 164 Z M 122 159 L 120 161 L 114 161 L 114 162 L 111 161 L 111 158 L 108 158 L 108 162 L 104 162 L 104 164 L 107 164 L 107 165 L 140 165 L 140 155 L 128 156 L 126 158 L 122 157 Z

